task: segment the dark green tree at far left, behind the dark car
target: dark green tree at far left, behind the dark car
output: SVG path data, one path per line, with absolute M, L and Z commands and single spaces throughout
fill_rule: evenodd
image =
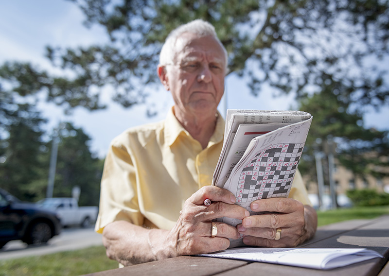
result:
M 33 105 L 18 103 L 1 88 L 0 99 L 1 187 L 22 200 L 34 201 L 44 194 L 45 186 L 38 185 L 39 179 L 47 180 L 43 169 L 48 168 L 46 143 L 41 131 L 46 120 Z

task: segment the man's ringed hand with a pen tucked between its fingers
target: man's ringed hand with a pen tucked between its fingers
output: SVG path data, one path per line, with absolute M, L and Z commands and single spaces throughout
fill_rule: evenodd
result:
M 212 201 L 204 205 L 205 199 Z M 173 256 L 203 254 L 227 249 L 229 239 L 238 239 L 236 227 L 218 223 L 216 237 L 211 237 L 212 220 L 229 217 L 242 220 L 249 216 L 248 210 L 235 205 L 235 196 L 225 189 L 206 186 L 195 192 L 184 204 L 175 227 L 167 238 Z M 165 247 L 166 249 L 166 247 Z

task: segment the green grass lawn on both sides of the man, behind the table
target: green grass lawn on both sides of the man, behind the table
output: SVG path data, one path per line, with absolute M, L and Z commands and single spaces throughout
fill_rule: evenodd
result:
M 389 206 L 318 211 L 318 224 L 371 219 L 384 214 L 389 214 Z M 78 276 L 117 267 L 116 261 L 106 257 L 103 246 L 93 246 L 44 256 L 0 260 L 0 276 Z

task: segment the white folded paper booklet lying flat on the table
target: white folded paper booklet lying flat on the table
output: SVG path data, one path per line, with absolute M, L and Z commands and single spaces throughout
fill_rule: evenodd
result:
M 364 248 L 258 248 L 240 247 L 199 256 L 245 259 L 315 269 L 332 269 L 356 262 L 383 258 Z

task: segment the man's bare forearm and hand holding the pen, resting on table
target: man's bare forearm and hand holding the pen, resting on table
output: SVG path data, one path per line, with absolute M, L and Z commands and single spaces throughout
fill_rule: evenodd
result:
M 204 205 L 207 198 L 212 201 L 210 206 Z M 146 229 L 127 221 L 112 222 L 103 231 L 106 254 L 127 266 L 227 249 L 229 238 L 238 239 L 240 234 L 231 225 L 216 223 L 217 235 L 211 237 L 212 220 L 224 216 L 242 220 L 250 215 L 234 203 L 230 191 L 206 186 L 185 201 L 177 224 L 170 231 Z

